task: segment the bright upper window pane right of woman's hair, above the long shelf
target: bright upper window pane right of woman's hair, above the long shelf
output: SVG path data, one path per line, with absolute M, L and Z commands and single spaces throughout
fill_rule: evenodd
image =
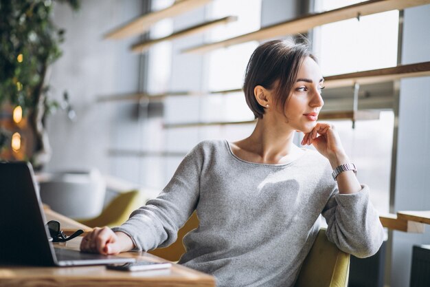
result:
M 317 1 L 318 10 L 331 10 L 359 1 Z M 315 53 L 324 76 L 397 64 L 398 10 L 322 25 L 315 29 Z

